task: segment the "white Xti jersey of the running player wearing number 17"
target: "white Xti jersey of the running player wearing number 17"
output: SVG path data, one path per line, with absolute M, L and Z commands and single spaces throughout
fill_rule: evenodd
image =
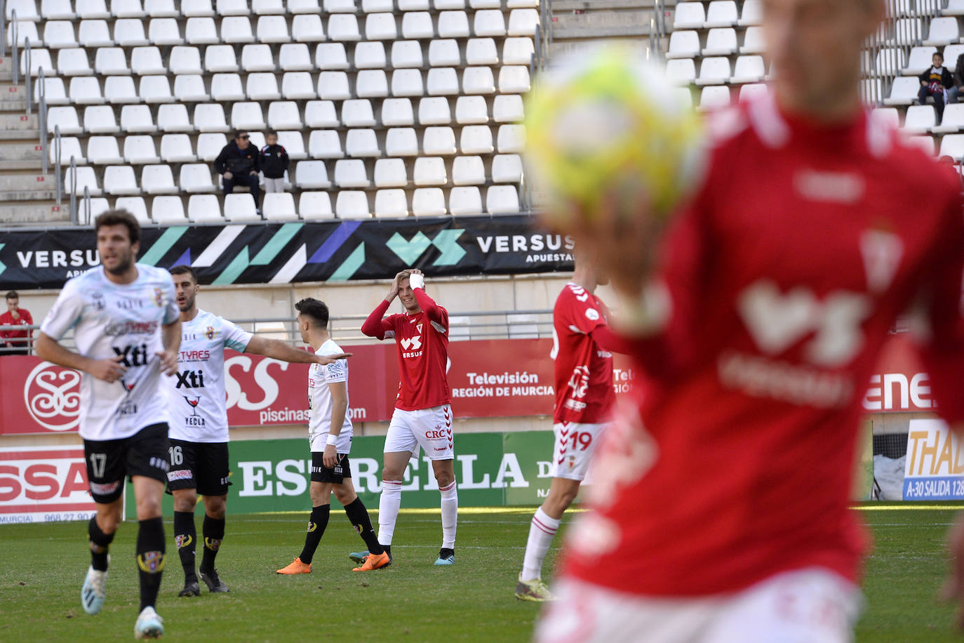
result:
M 161 325 L 177 320 L 174 282 L 166 270 L 136 264 L 137 279 L 114 283 L 103 266 L 64 284 L 40 332 L 60 340 L 74 327 L 77 352 L 94 360 L 121 357 L 127 371 L 107 383 L 83 373 L 80 437 L 128 438 L 150 424 L 168 422 L 160 358 Z

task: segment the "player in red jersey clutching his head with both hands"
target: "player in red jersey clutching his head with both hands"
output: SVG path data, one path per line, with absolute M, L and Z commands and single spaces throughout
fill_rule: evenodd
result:
M 405 312 L 384 317 L 398 297 Z M 442 494 L 442 549 L 436 565 L 455 564 L 455 527 L 459 496 L 455 488 L 452 450 L 452 407 L 446 368 L 448 311 L 425 294 L 425 277 L 418 269 L 395 275 L 388 296 L 362 324 L 362 333 L 394 338 L 398 345 L 398 397 L 385 437 L 382 496 L 378 505 L 378 542 L 391 555 L 391 537 L 402 503 L 402 478 L 419 446 L 432 461 Z M 364 561 L 367 552 L 351 558 Z

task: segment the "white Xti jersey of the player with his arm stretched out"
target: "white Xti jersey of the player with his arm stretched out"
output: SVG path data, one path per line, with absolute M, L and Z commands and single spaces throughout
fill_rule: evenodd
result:
M 165 378 L 172 440 L 228 442 L 225 349 L 243 353 L 251 333 L 207 310 L 181 323 L 177 373 Z

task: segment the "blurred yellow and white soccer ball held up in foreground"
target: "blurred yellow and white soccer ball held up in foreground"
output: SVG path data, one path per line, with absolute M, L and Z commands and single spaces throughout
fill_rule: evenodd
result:
M 525 138 L 527 173 L 555 228 L 574 216 L 591 220 L 614 198 L 622 212 L 645 199 L 666 215 L 705 165 L 697 114 L 663 67 L 620 46 L 576 51 L 541 74 L 527 98 Z

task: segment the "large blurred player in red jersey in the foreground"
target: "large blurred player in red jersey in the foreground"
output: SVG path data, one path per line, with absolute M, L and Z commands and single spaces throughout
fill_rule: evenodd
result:
M 860 401 L 908 308 L 939 412 L 964 420 L 959 179 L 860 102 L 884 3 L 762 6 L 771 92 L 711 123 L 708 174 L 666 233 L 615 206 L 567 230 L 648 381 L 597 453 L 542 643 L 852 640 Z

